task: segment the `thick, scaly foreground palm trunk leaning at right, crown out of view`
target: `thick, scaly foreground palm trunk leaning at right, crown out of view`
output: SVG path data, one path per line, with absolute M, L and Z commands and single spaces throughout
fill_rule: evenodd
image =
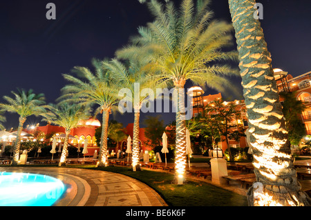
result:
M 254 19 L 254 4 L 229 0 L 257 181 L 247 199 L 249 206 L 305 206 L 310 198 L 299 191 L 272 59 L 261 24 Z

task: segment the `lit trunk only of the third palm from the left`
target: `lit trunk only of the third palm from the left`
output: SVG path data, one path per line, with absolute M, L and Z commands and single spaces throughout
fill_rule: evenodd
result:
M 100 155 L 98 166 L 106 166 L 105 164 L 108 161 L 107 139 L 110 108 L 103 108 L 102 110 L 102 136 L 100 138 Z

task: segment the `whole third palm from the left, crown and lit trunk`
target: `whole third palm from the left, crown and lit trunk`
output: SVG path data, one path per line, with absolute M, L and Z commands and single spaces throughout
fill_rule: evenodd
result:
M 102 136 L 100 141 L 99 165 L 105 166 L 108 159 L 107 138 L 109 114 L 114 105 L 119 101 L 117 96 L 120 90 L 120 83 L 111 81 L 109 74 L 103 70 L 102 63 L 96 59 L 92 61 L 95 73 L 88 68 L 75 67 L 73 72 L 80 75 L 82 79 L 73 77 L 70 74 L 63 74 L 64 78 L 70 81 L 69 85 L 62 88 L 64 93 L 61 99 L 68 99 L 77 103 L 99 106 L 95 114 L 102 113 Z

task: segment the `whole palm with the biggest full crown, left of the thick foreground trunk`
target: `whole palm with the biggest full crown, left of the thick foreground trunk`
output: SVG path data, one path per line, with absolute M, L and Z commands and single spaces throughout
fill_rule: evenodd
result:
M 232 25 L 225 21 L 211 21 L 213 12 L 209 1 L 183 0 L 177 10 L 173 2 L 162 5 L 156 0 L 147 3 L 155 21 L 138 29 L 133 46 L 117 55 L 123 58 L 151 59 L 149 71 L 159 71 L 162 83 L 171 84 L 178 94 L 176 112 L 176 172 L 184 174 L 186 168 L 186 127 L 184 86 L 186 81 L 207 85 L 225 92 L 229 85 L 226 76 L 238 75 L 228 65 L 217 61 L 237 61 L 237 52 L 223 52 L 232 45 Z

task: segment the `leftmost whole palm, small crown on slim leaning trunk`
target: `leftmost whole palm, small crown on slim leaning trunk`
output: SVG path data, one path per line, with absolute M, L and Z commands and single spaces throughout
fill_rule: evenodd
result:
M 4 96 L 3 99 L 7 103 L 0 103 L 0 109 L 8 112 L 15 112 L 19 114 L 19 127 L 17 129 L 17 138 L 13 146 L 13 159 L 12 165 L 15 166 L 19 161 L 19 147 L 21 144 L 21 131 L 23 130 L 23 123 L 25 123 L 27 117 L 30 115 L 39 116 L 46 112 L 46 103 L 44 101 L 44 94 L 35 94 L 30 89 L 27 92 L 25 90 L 17 89 L 17 92 L 13 92 L 14 98 Z

